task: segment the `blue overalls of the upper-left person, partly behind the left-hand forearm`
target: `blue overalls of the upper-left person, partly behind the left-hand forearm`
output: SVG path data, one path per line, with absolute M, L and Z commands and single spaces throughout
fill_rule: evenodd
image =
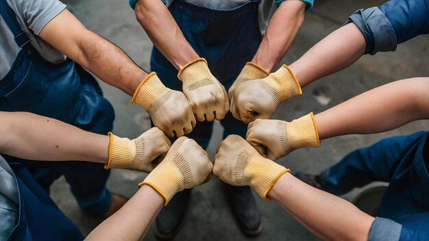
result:
M 21 47 L 9 73 L 0 81 L 0 111 L 32 112 L 56 118 L 86 131 L 107 134 L 114 112 L 103 98 L 92 75 L 72 60 L 52 64 L 34 49 L 19 27 L 5 0 L 0 13 Z M 55 179 L 64 175 L 80 207 L 90 214 L 102 214 L 111 201 L 106 188 L 109 171 L 90 162 L 34 162 L 4 155 L 8 162 L 25 164 L 36 181 L 49 192 Z

